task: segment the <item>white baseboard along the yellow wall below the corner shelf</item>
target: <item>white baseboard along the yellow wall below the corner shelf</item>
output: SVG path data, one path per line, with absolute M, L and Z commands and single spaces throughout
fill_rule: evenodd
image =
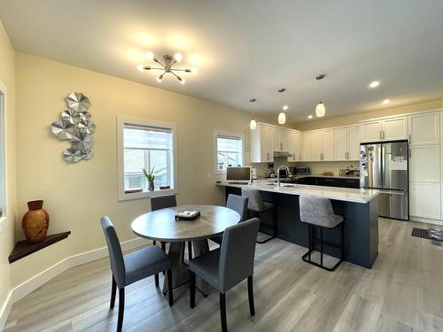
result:
M 123 251 L 128 251 L 150 243 L 152 243 L 152 241 L 137 238 L 121 243 L 121 249 Z M 107 247 L 82 252 L 78 255 L 60 260 L 57 264 L 54 264 L 43 272 L 36 274 L 26 282 L 19 284 L 19 286 L 15 287 L 9 292 L 8 297 L 6 297 L 4 304 L 0 308 L 0 331 L 4 328 L 4 324 L 6 323 L 9 313 L 11 312 L 12 305 L 19 301 L 19 299 L 26 297 L 27 294 L 38 289 L 39 287 L 42 287 L 46 282 L 49 282 L 52 278 L 55 278 L 58 276 L 58 274 L 61 274 L 68 268 L 89 263 L 97 259 L 103 259 L 106 256 L 108 256 Z

